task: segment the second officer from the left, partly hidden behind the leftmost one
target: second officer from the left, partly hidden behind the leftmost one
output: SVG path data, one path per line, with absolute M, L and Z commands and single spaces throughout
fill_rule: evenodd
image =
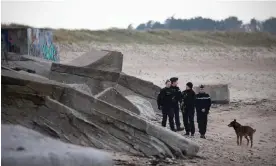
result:
M 181 102 L 181 91 L 180 91 L 179 87 L 177 86 L 178 78 L 177 77 L 172 77 L 170 79 L 170 81 L 171 81 L 171 89 L 173 91 L 172 107 L 173 107 L 173 110 L 174 110 L 176 130 L 177 131 L 182 131 L 182 130 L 184 130 L 184 128 L 180 127 L 181 123 L 180 123 L 180 120 L 179 120 L 179 104 Z

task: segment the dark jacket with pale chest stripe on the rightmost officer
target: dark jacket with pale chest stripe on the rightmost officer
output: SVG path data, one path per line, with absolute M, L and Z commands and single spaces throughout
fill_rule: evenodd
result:
M 206 110 L 206 113 L 209 113 L 211 107 L 211 98 L 207 93 L 198 93 L 196 95 L 196 110 L 201 111 L 202 109 Z

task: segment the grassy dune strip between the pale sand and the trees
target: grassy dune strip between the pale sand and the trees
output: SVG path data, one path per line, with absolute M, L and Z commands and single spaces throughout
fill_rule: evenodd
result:
M 170 30 L 54 30 L 59 43 L 120 42 L 144 44 L 187 44 L 212 46 L 276 46 L 276 36 L 264 32 L 199 32 Z

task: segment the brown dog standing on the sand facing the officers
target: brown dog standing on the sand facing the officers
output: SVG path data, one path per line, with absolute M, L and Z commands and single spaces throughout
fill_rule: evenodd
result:
M 256 132 L 256 129 L 253 129 L 250 126 L 242 126 L 239 124 L 236 119 L 234 119 L 231 123 L 229 123 L 228 127 L 233 127 L 236 134 L 237 134 L 237 144 L 241 145 L 242 143 L 242 137 L 244 136 L 247 140 L 247 146 L 249 145 L 249 139 L 251 141 L 251 148 L 253 145 L 253 134 Z

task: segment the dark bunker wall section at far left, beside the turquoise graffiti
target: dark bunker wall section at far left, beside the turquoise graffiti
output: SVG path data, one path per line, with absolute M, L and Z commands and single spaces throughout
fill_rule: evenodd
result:
M 1 29 L 1 41 L 5 45 L 3 48 L 8 52 L 20 54 L 28 52 L 26 29 Z

